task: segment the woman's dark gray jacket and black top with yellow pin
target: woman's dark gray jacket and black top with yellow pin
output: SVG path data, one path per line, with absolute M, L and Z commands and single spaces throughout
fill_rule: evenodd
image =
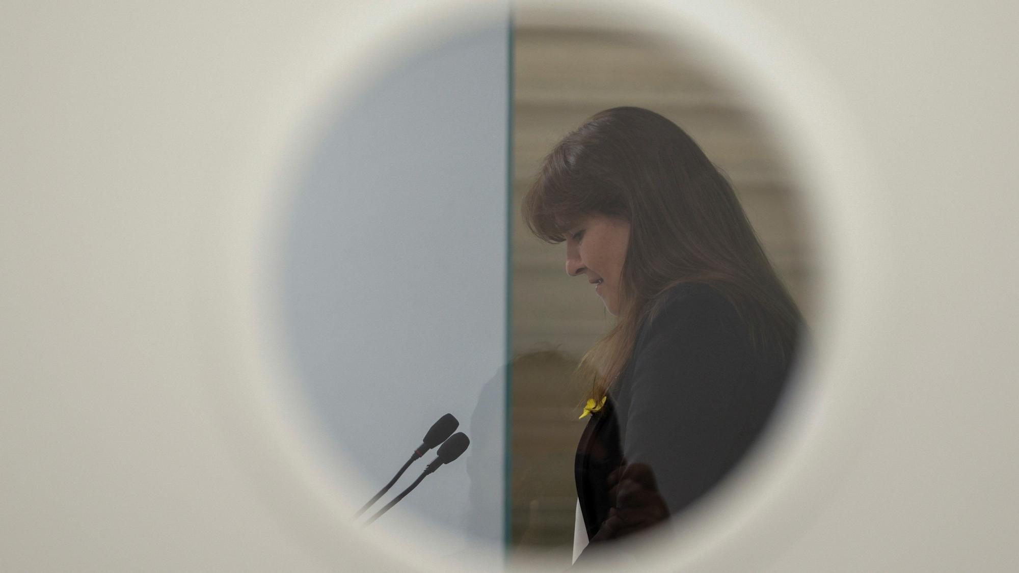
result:
M 675 516 L 747 452 L 788 370 L 789 360 L 754 352 L 746 322 L 711 287 L 673 288 L 640 326 L 630 362 L 577 448 L 577 493 L 592 542 L 608 532 L 595 538 L 615 502 L 613 470 L 646 464 Z

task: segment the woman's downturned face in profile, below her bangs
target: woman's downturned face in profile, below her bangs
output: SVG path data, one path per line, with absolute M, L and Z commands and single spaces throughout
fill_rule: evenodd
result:
M 598 213 L 582 216 L 567 233 L 567 274 L 584 274 L 612 315 L 620 311 L 620 277 L 630 222 Z

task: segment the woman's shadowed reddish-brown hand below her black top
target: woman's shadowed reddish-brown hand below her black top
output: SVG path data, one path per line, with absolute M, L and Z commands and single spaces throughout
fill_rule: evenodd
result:
M 624 460 L 608 474 L 608 485 L 612 507 L 591 542 L 616 539 L 668 519 L 668 507 L 647 464 L 627 464 Z

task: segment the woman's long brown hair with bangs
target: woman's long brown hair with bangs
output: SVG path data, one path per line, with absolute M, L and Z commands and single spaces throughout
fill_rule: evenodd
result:
M 747 323 L 760 353 L 789 358 L 799 309 L 775 274 L 732 186 L 667 118 L 639 107 L 591 116 L 545 157 L 524 199 L 528 227 L 549 243 L 586 214 L 630 222 L 615 324 L 578 376 L 600 399 L 633 354 L 637 332 L 682 282 L 706 283 Z

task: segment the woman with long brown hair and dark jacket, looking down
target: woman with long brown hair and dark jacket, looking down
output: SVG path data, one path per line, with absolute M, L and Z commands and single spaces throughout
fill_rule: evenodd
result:
M 619 538 L 683 511 L 746 453 L 801 316 L 729 183 L 657 113 L 592 116 L 545 158 L 523 212 L 618 317 L 577 371 L 591 417 L 576 480 L 582 543 Z

